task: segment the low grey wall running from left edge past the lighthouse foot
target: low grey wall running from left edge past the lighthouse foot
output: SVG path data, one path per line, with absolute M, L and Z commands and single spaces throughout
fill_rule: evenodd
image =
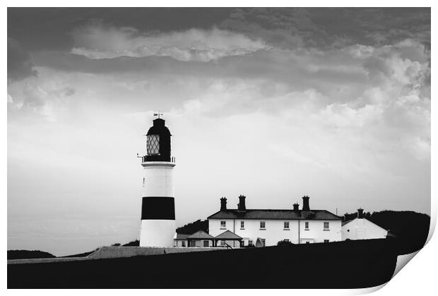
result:
M 207 252 L 225 250 L 223 247 L 100 247 L 87 257 L 11 259 L 8 264 L 32 264 L 64 261 L 81 261 L 91 259 L 126 258 L 134 256 L 151 256 L 171 253 Z

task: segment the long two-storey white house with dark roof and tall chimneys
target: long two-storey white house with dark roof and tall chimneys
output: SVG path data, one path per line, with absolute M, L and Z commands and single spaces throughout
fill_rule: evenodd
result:
M 208 217 L 208 233 L 217 237 L 230 230 L 242 238 L 243 245 L 277 245 L 280 240 L 293 244 L 341 241 L 342 218 L 326 210 L 310 209 L 309 197 L 303 206 L 293 209 L 247 209 L 245 197 L 239 196 L 237 209 L 227 209 L 227 199 L 220 199 L 220 211 Z

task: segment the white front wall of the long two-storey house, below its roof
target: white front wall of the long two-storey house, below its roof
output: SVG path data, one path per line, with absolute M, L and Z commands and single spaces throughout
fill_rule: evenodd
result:
M 220 228 L 220 221 L 225 221 L 225 229 Z M 244 221 L 244 229 L 240 228 L 240 221 Z M 260 229 L 260 221 L 265 221 L 266 230 Z M 289 230 L 284 230 L 284 222 L 289 222 Z M 249 238 L 256 244 L 257 238 L 264 238 L 266 246 L 277 245 L 280 240 L 288 239 L 293 244 L 298 244 L 298 224 L 300 223 L 301 242 L 304 239 L 313 240 L 312 242 L 340 241 L 341 221 L 328 220 L 329 230 L 324 230 L 324 221 L 309 221 L 309 230 L 304 230 L 304 220 L 242 220 L 242 219 L 208 219 L 208 232 L 214 237 L 223 233 L 225 230 L 239 235 L 242 238 Z M 245 240 L 246 242 L 247 240 Z

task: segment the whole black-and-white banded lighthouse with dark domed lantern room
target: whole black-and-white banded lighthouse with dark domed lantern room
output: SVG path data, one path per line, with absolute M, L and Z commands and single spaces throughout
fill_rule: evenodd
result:
M 146 135 L 146 156 L 141 158 L 143 200 L 141 203 L 141 247 L 173 247 L 175 206 L 174 159 L 170 156 L 170 130 L 156 118 Z

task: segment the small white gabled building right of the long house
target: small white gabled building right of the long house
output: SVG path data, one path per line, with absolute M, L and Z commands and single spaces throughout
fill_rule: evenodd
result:
M 357 209 L 357 218 L 342 226 L 342 240 L 372 240 L 386 238 L 387 234 L 388 230 L 364 218 L 363 209 Z

